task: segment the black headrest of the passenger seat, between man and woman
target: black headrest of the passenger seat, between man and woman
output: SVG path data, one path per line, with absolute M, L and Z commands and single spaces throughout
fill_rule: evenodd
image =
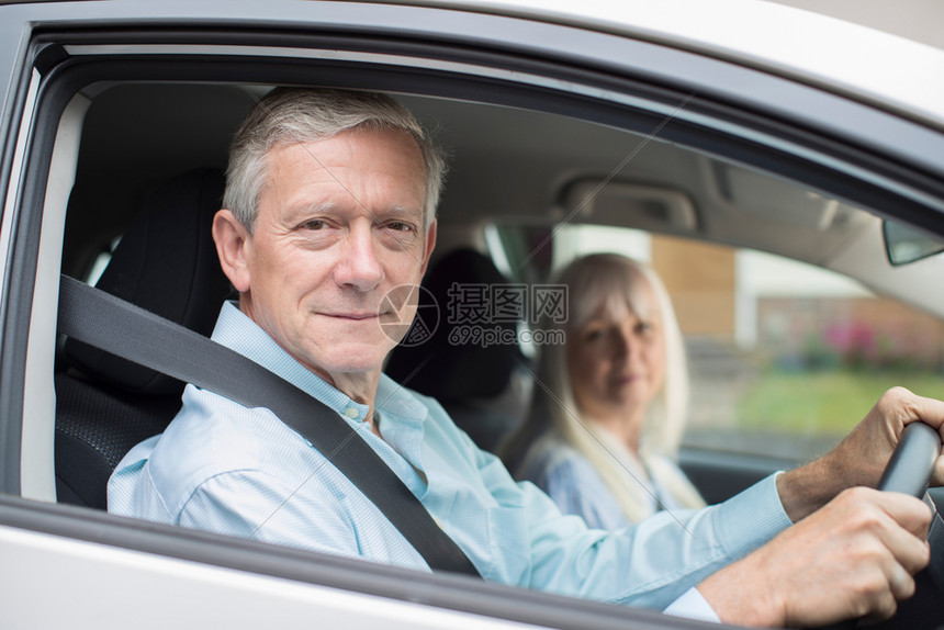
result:
M 465 285 L 507 284 L 508 280 L 488 257 L 474 249 L 456 249 L 440 258 L 426 274 L 420 292 L 419 313 L 434 303 L 439 311 L 439 325 L 432 336 L 416 346 L 398 346 L 391 353 L 385 372 L 393 380 L 440 402 L 469 398 L 492 398 L 508 385 L 512 372 L 521 357 L 517 345 L 464 342 L 450 339 L 450 288 Z M 513 322 L 487 323 L 486 327 L 510 330 Z M 409 334 L 405 338 L 409 338 Z M 411 373 L 428 359 L 423 368 Z

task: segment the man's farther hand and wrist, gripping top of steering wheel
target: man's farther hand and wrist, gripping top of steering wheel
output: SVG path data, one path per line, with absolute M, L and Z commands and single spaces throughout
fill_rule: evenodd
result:
M 832 451 L 777 479 L 784 509 L 794 522 L 812 514 L 849 487 L 875 487 L 901 432 L 921 420 L 942 431 L 944 402 L 917 396 L 904 387 L 888 390 Z M 932 485 L 944 485 L 944 457 L 934 466 Z

